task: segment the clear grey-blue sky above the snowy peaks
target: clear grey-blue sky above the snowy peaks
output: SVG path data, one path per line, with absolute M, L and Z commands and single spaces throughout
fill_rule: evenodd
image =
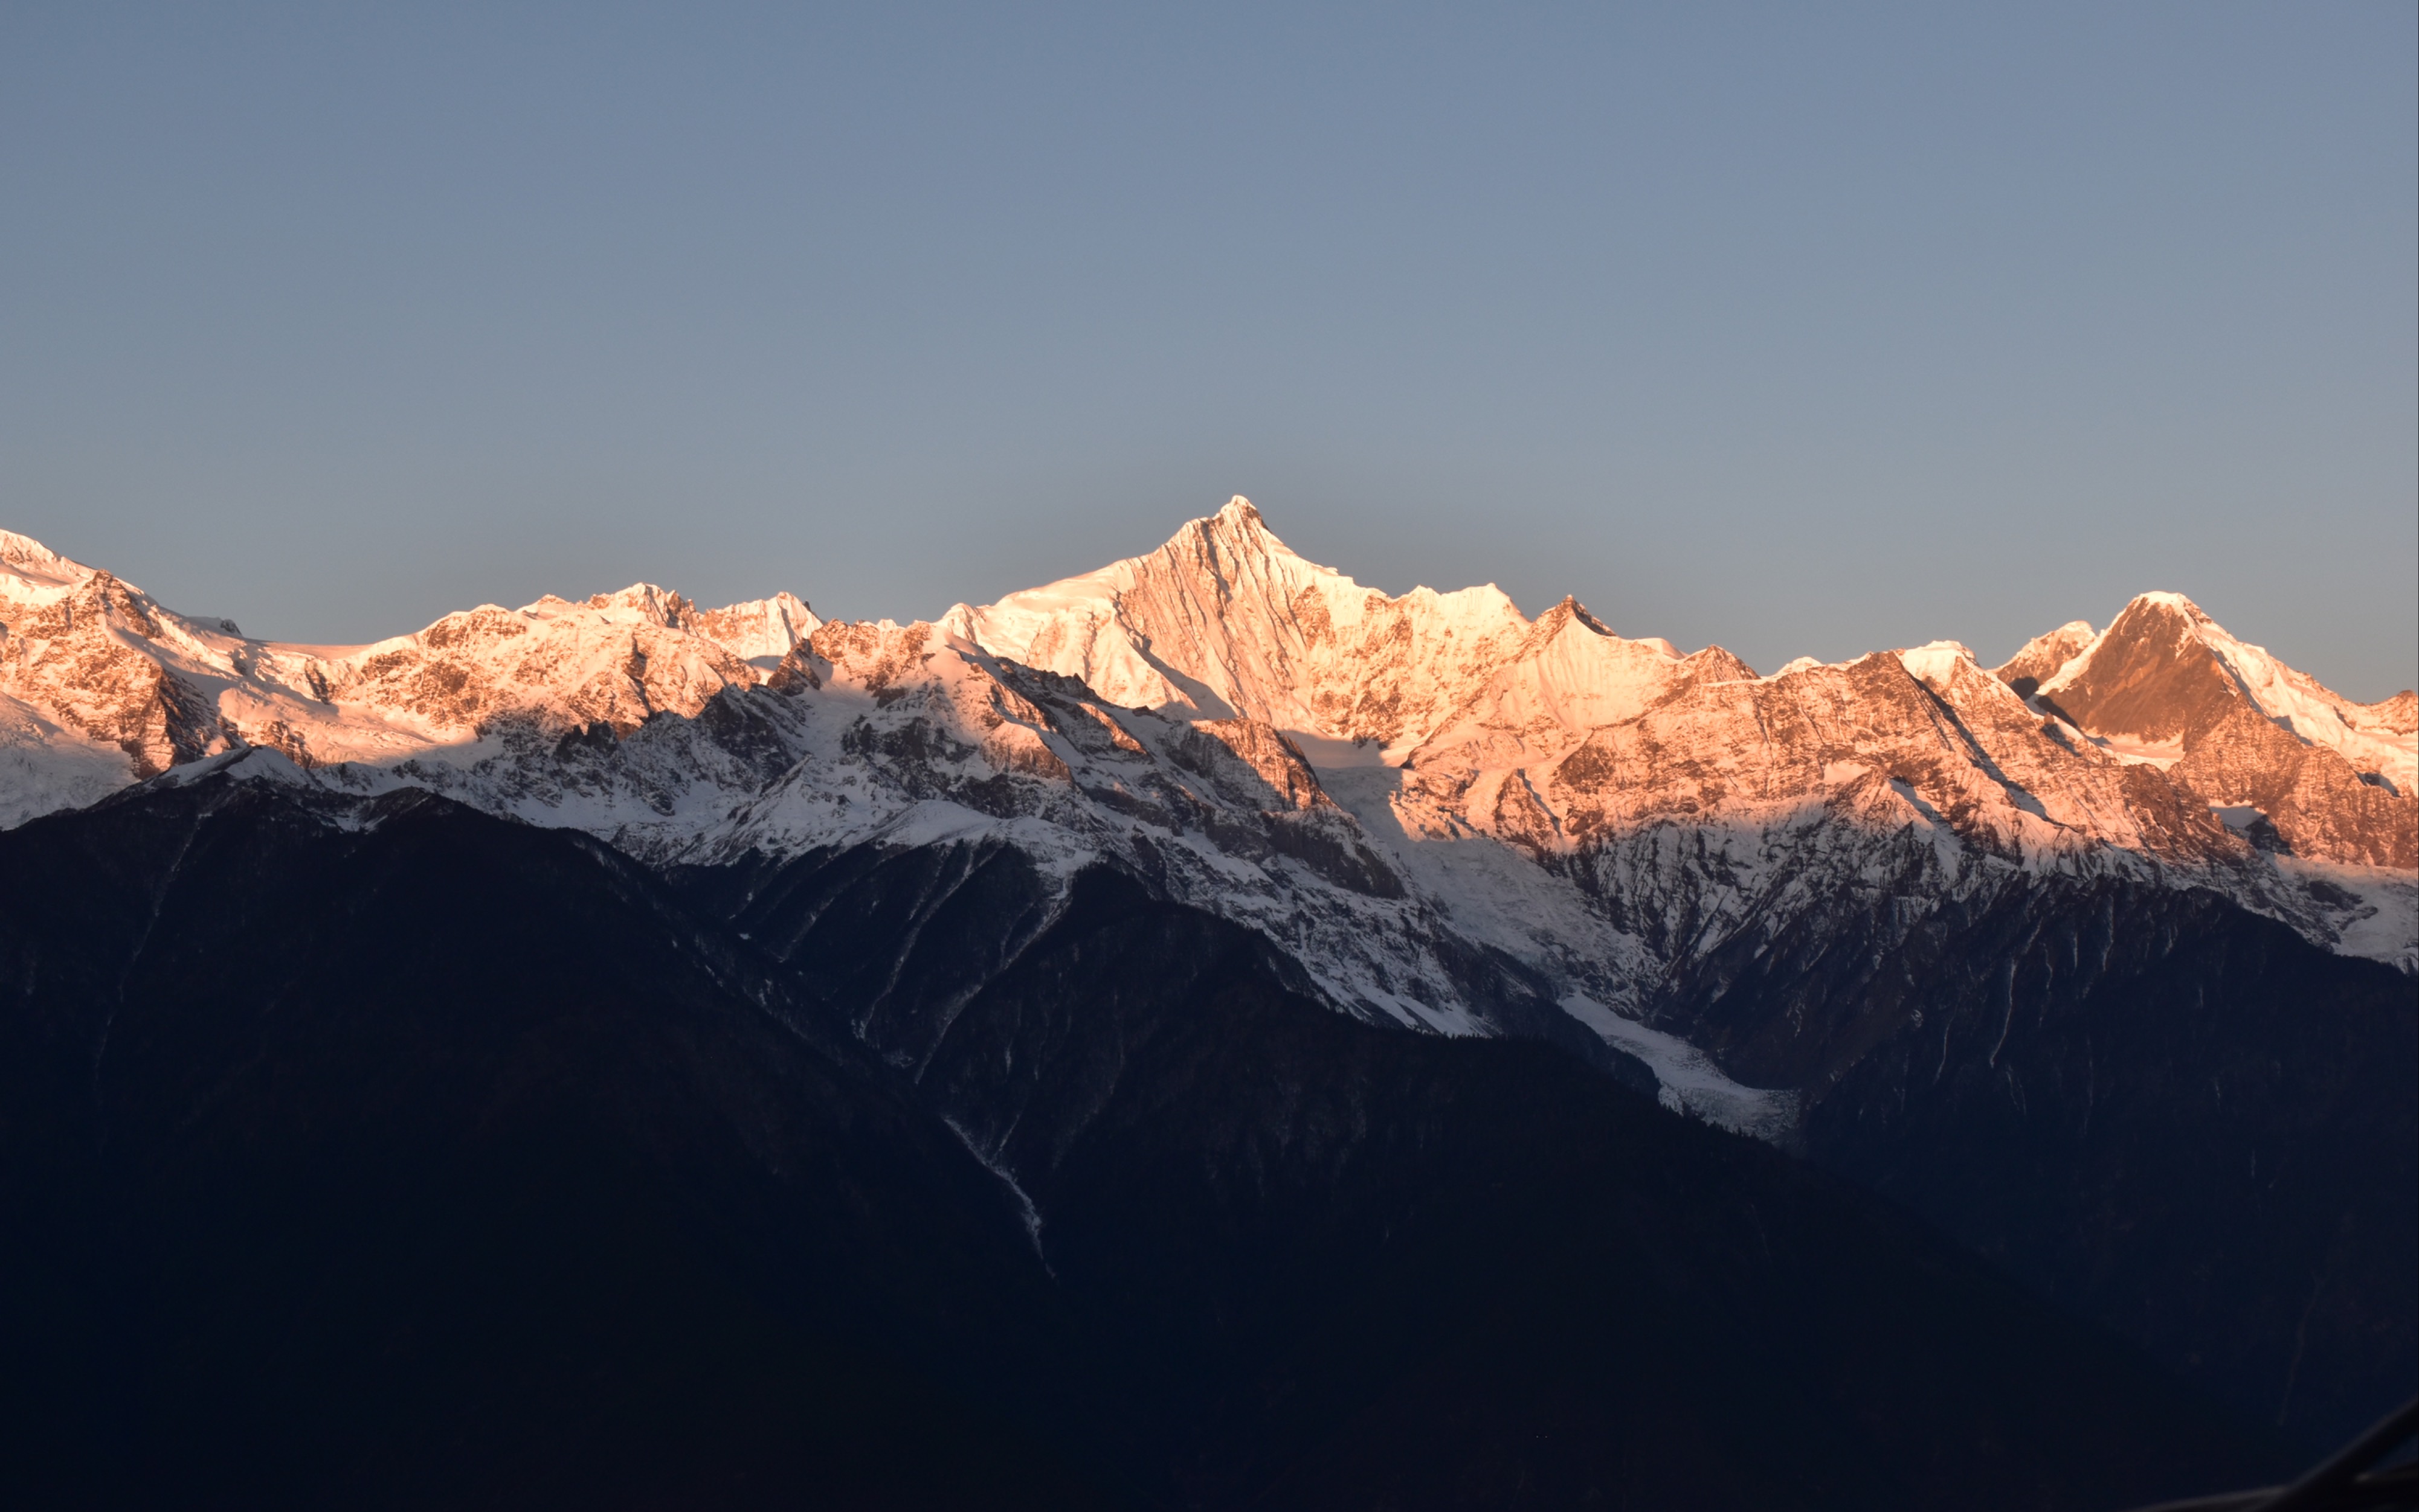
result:
M 2419 7 L 0 0 L 0 525 L 929 617 L 1251 494 L 1761 670 L 2419 665 Z

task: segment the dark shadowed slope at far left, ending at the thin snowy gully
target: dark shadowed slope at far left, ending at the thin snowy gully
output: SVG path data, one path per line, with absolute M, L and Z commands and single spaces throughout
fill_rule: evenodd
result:
M 1101 1500 L 997 1178 L 605 847 L 220 781 L 0 876 L 15 1505 Z

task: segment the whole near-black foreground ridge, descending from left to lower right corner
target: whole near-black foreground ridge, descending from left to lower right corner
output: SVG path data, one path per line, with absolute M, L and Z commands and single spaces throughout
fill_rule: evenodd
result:
M 665 883 L 227 779 L 0 835 L 0 1497 L 2090 1510 L 2296 1468 L 1613 1074 L 1347 1021 L 1127 876 L 1045 898 L 1006 849 Z

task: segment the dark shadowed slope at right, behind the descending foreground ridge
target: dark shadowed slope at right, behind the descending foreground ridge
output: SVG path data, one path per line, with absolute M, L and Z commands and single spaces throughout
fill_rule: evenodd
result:
M 1667 1026 L 1800 1147 L 2322 1454 L 2419 1391 L 2419 982 L 2042 878 L 1720 953 Z

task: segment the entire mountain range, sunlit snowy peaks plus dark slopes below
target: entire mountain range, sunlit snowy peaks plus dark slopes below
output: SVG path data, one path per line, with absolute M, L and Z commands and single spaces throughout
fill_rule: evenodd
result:
M 1759 675 L 1236 498 L 0 619 L 46 1500 L 2114 1507 L 2414 1389 L 2419 704 L 2177 593 Z

